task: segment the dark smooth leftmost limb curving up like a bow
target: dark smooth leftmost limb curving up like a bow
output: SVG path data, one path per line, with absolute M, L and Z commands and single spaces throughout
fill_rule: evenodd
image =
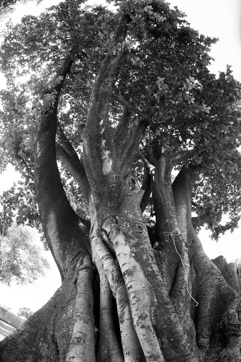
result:
M 57 73 L 57 76 L 63 76 L 63 80 L 55 88 L 58 89 L 58 97 L 54 110 L 42 116 L 37 132 L 34 167 L 39 214 L 48 246 L 62 280 L 71 261 L 77 255 L 89 254 L 89 232 L 83 224 L 79 223 L 79 219 L 76 218 L 76 214 L 69 205 L 60 179 L 55 150 L 58 98 L 71 64 L 72 59 L 68 55 Z

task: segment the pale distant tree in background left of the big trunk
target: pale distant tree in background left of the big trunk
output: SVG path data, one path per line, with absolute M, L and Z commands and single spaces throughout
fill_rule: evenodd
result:
M 0 282 L 10 285 L 34 283 L 50 266 L 34 243 L 28 227 L 12 224 L 0 236 Z

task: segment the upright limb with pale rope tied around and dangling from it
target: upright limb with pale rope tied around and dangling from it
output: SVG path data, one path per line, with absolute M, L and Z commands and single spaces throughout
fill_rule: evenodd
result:
M 166 282 L 166 288 L 169 291 L 170 298 L 178 311 L 178 317 L 183 327 L 194 332 L 194 325 L 190 316 L 190 265 L 187 255 L 185 235 L 182 235 L 182 228 L 177 222 L 176 208 L 174 205 L 171 171 L 176 162 L 180 159 L 190 157 L 187 154 L 172 154 L 162 156 L 155 169 L 154 181 L 154 200 L 157 240 L 159 241 L 156 254 L 158 265 L 160 266 L 161 275 Z M 178 230 L 180 229 L 180 230 Z M 170 232 L 175 231 L 173 235 Z M 178 253 L 181 255 L 178 255 Z M 184 266 L 183 266 L 184 265 Z M 189 289 L 187 289 L 187 281 Z M 191 329 L 191 331 L 190 331 Z M 193 341 L 191 341 L 193 343 Z

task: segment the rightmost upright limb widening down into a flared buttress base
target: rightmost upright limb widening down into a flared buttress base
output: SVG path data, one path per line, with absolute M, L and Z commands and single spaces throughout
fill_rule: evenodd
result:
M 187 242 L 189 259 L 196 273 L 196 308 L 195 326 L 201 357 L 207 360 L 215 355 L 220 361 L 228 361 L 230 351 L 233 360 L 240 359 L 238 341 L 240 338 L 240 322 L 236 310 L 238 295 L 235 289 L 224 280 L 220 270 L 203 251 L 202 244 L 196 235 L 191 222 L 191 190 L 199 174 L 198 167 L 184 167 L 173 182 L 173 195 L 180 226 L 184 227 L 182 219 L 186 217 Z M 185 213 L 182 213 L 185 204 Z M 181 228 L 180 227 L 180 228 Z M 207 293 L 208 285 L 208 293 Z M 236 327 L 234 328 L 234 325 Z M 224 336 L 224 337 L 221 337 Z M 228 336 L 228 337 L 227 337 Z M 228 338 L 227 344 L 217 352 L 220 338 Z M 214 352 L 216 348 L 216 352 Z

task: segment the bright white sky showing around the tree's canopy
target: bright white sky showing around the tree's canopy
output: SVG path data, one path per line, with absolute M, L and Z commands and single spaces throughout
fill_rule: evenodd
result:
M 59 0 L 44 0 L 41 11 L 46 6 L 59 3 Z M 102 3 L 103 1 L 96 1 Z M 233 76 L 241 81 L 241 2 L 240 0 L 169 0 L 171 6 L 177 5 L 187 14 L 187 20 L 199 33 L 210 37 L 219 38 L 219 42 L 212 47 L 211 56 L 215 62 L 210 70 L 218 75 L 218 71 L 225 71 L 226 64 L 232 66 Z M 33 4 L 20 5 L 13 16 L 13 21 L 18 22 L 25 14 L 37 15 L 40 7 Z M 0 75 L 0 86 L 4 87 L 4 79 Z M 11 167 L 0 175 L 0 193 L 12 186 L 17 181 L 19 174 Z M 241 225 L 240 225 L 241 226 Z M 227 261 L 241 257 L 240 230 L 232 234 L 227 232 L 218 243 L 212 241 L 209 233 L 204 229 L 199 233 L 204 251 L 210 258 L 223 255 Z M 46 253 L 52 269 L 47 271 L 45 279 L 39 279 L 35 286 L 5 287 L 0 285 L 0 304 L 5 304 L 17 313 L 20 307 L 29 307 L 32 311 L 38 310 L 54 294 L 60 286 L 60 276 L 51 253 Z

